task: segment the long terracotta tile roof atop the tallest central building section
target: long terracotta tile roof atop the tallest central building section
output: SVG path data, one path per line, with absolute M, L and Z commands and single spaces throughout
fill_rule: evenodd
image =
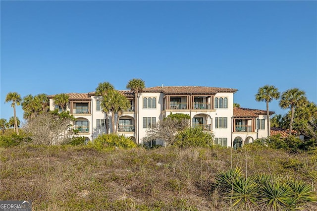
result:
M 218 92 L 235 93 L 237 89 L 202 86 L 157 86 L 143 89 L 143 92 L 162 92 L 164 94 L 215 94 Z

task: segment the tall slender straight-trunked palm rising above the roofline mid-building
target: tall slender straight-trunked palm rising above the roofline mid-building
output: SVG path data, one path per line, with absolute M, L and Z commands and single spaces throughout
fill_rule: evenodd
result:
M 126 86 L 127 89 L 130 89 L 132 92 L 134 92 L 134 112 L 135 112 L 135 140 L 137 140 L 137 144 L 139 143 L 139 137 L 138 137 L 138 93 L 141 92 L 145 88 L 145 82 L 140 78 L 133 78 L 130 81 L 128 81 L 128 84 Z

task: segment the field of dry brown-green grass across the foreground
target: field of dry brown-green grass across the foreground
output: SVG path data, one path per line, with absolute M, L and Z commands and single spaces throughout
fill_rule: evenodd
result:
M 248 175 L 270 172 L 315 186 L 317 174 L 307 172 L 317 172 L 316 158 L 251 148 L 17 146 L 0 149 L 0 200 L 31 199 L 34 210 L 49 211 L 225 211 L 214 185 L 219 170 L 238 165 Z

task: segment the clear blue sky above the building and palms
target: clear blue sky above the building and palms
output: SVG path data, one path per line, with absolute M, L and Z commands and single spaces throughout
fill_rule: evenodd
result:
M 317 103 L 317 1 L 0 1 L 0 117 L 8 92 L 87 93 L 132 78 L 236 88 L 265 109 L 265 84 Z M 270 110 L 284 114 L 278 102 Z M 17 115 L 22 120 L 21 106 Z

